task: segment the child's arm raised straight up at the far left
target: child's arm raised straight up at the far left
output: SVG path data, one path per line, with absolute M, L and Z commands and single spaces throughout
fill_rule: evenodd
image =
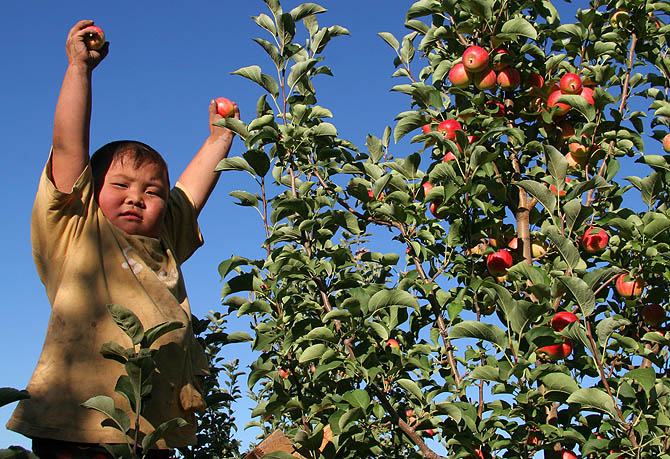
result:
M 54 185 L 69 193 L 88 164 L 91 123 L 91 73 L 105 58 L 109 43 L 99 50 L 86 45 L 84 29 L 93 21 L 83 20 L 70 29 L 65 49 L 68 67 L 54 116 L 52 176 Z

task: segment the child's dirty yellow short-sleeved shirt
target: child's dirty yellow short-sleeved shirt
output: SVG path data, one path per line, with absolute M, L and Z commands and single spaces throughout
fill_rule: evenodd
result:
M 204 405 L 194 387 L 199 385 L 197 376 L 207 373 L 207 359 L 193 335 L 180 270 L 203 242 L 192 200 L 177 183 L 160 236 L 129 235 L 112 225 L 95 202 L 90 166 L 71 193 L 56 189 L 50 171 L 51 158 L 35 199 L 31 236 L 51 317 L 27 387 L 31 398 L 19 402 L 7 428 L 31 438 L 125 443 L 116 429 L 101 426 L 102 414 L 80 406 L 96 395 L 108 395 L 130 414 L 127 401 L 114 392 L 125 368 L 100 354 L 109 341 L 132 345 L 107 310 L 107 304 L 116 303 L 132 310 L 145 330 L 166 321 L 185 325 L 152 346 L 158 350 L 158 369 L 141 430 L 148 433 L 181 417 L 189 424 L 172 431 L 159 446 L 194 444 L 194 411 Z

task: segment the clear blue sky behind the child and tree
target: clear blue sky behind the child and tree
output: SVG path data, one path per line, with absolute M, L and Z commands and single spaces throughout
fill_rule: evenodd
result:
M 298 4 L 283 3 L 285 10 Z M 364 148 L 367 134 L 381 136 L 386 125 L 393 125 L 395 115 L 408 109 L 406 96 L 389 91 L 405 81 L 390 77 L 394 52 L 377 32 L 401 38 L 406 33 L 405 12 L 412 2 L 316 3 L 329 10 L 319 15 L 321 25 L 338 24 L 351 32 L 349 37 L 335 38 L 327 48 L 325 64 L 335 78 L 317 78 L 319 104 L 334 113 L 332 122 L 341 137 Z M 260 88 L 230 72 L 260 64 L 270 73 L 265 53 L 251 40 L 268 38 L 250 18 L 261 12 L 268 12 L 261 0 L 4 2 L 0 183 L 8 199 L 0 288 L 7 296 L 0 309 L 0 386 L 26 386 L 49 318 L 49 304 L 33 266 L 29 224 L 38 177 L 51 145 L 69 28 L 79 19 L 93 19 L 111 44 L 109 56 L 94 72 L 91 150 L 112 140 L 141 140 L 165 156 L 175 179 L 207 135 L 210 99 L 226 96 L 239 104 L 243 120 L 254 117 Z M 406 148 L 395 147 L 394 154 L 403 156 Z M 243 151 L 238 139 L 231 155 Z M 183 266 L 197 316 L 219 307 L 220 261 L 233 253 L 262 256 L 257 214 L 235 206 L 228 196 L 232 190 L 250 186 L 246 174 L 225 174 L 201 214 L 205 245 Z M 248 321 L 232 318 L 229 326 L 230 331 L 248 330 Z M 228 349 L 231 359 L 239 357 L 245 364 L 252 359 L 248 344 Z M 242 390 L 246 391 L 246 384 Z M 0 448 L 30 445 L 4 428 L 14 406 L 0 408 Z M 243 403 L 237 410 L 238 437 L 245 445 L 258 433 L 243 430 L 249 406 Z

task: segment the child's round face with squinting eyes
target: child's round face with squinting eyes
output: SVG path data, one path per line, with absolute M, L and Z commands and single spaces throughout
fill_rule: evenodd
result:
M 98 192 L 98 205 L 126 233 L 158 237 L 168 196 L 165 171 L 151 162 L 135 167 L 132 158 L 123 159 L 110 164 Z

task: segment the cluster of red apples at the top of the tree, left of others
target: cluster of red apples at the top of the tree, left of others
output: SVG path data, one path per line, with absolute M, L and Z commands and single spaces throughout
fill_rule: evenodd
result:
M 491 58 L 492 57 L 492 58 Z M 489 65 L 491 60 L 491 65 Z M 481 46 L 470 46 L 464 52 L 461 62 L 455 64 L 448 75 L 454 86 L 464 88 L 474 84 L 482 91 L 495 89 L 513 91 L 521 84 L 521 74 L 509 66 L 509 52 L 496 48 L 492 56 Z

